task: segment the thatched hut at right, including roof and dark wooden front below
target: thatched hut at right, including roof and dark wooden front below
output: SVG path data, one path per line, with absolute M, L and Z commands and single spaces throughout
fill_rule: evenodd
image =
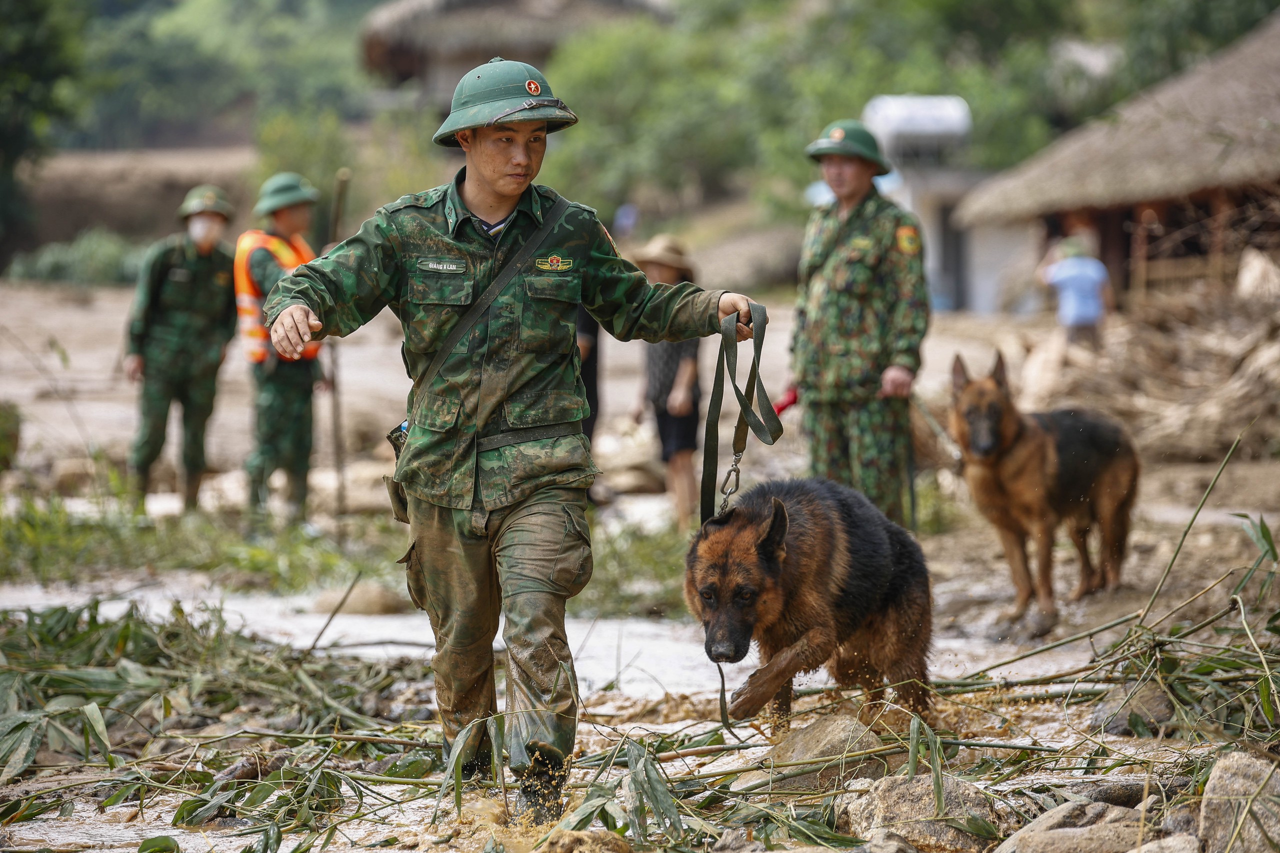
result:
M 1225 283 L 1280 251 L 1280 13 L 1211 59 L 975 187 L 954 221 L 1088 230 L 1137 294 Z

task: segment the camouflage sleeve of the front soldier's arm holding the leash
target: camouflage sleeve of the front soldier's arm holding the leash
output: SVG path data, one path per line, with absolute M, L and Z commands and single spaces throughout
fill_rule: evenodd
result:
M 566 220 L 586 240 L 582 306 L 618 340 L 685 340 L 719 330 L 723 290 L 696 284 L 650 283 L 634 263 L 618 257 L 613 239 L 595 216 L 573 208 Z

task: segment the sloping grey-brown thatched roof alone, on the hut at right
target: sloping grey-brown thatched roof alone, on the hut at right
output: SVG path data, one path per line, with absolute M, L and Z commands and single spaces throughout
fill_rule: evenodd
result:
M 959 224 L 1280 179 L 1280 14 L 970 192 Z

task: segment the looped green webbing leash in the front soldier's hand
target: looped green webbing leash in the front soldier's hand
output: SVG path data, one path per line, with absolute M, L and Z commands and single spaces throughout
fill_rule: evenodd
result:
M 721 321 L 721 348 L 716 359 L 716 381 L 712 385 L 710 399 L 707 403 L 707 434 L 703 439 L 703 489 L 701 489 L 701 520 L 705 524 L 713 517 L 728 509 L 728 499 L 739 489 L 742 462 L 742 453 L 746 450 L 748 428 L 755 437 L 767 445 L 772 445 L 782 435 L 782 421 L 773 412 L 773 403 L 764 390 L 764 381 L 760 379 L 760 352 L 764 348 L 764 326 L 768 316 L 764 306 L 751 303 L 751 370 L 746 377 L 746 391 L 737 386 L 737 315 L 730 315 Z M 719 510 L 716 509 L 716 480 L 719 474 L 719 412 L 724 399 L 724 373 L 728 373 L 730 385 L 737 395 L 739 416 L 737 426 L 733 428 L 733 462 L 724 474 L 724 482 L 719 486 L 723 495 Z M 759 414 L 751 409 L 753 398 L 759 403 Z M 732 485 L 730 481 L 732 480 Z

